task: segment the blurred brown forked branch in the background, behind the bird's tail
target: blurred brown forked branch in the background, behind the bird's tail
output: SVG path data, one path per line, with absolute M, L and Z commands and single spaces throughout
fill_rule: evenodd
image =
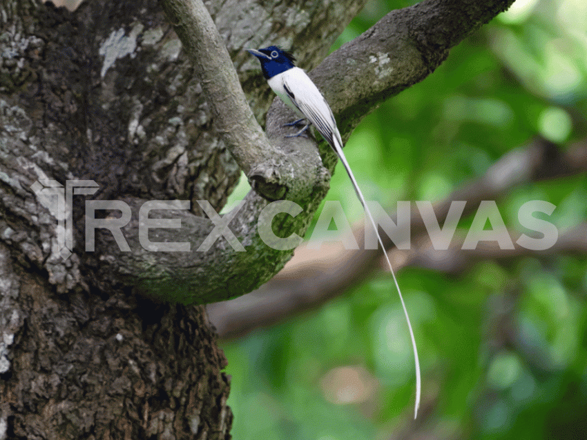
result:
M 468 202 L 465 214 L 474 212 L 483 200 L 496 200 L 508 190 L 523 183 L 543 179 L 561 179 L 587 172 L 587 143 L 581 141 L 567 150 L 559 150 L 552 142 L 535 139 L 529 146 L 512 150 L 479 179 L 457 188 L 450 196 L 434 205 L 439 221 L 445 219 L 454 200 Z M 394 216 L 392 216 L 394 217 Z M 425 234 L 425 226 L 417 210 L 412 210 L 410 230 L 415 246 L 409 251 L 393 250 L 390 259 L 396 270 L 418 266 L 448 274 L 459 274 L 481 259 L 514 259 L 540 257 L 553 253 L 587 254 L 587 223 L 581 223 L 559 235 L 548 251 L 532 251 L 521 246 L 501 250 L 497 243 L 479 243 L 474 250 L 463 250 L 463 239 L 457 238 L 449 250 L 434 250 Z M 358 222 L 354 235 L 363 243 L 364 221 Z M 382 236 L 385 232 L 382 233 Z M 515 242 L 516 233 L 510 234 Z M 520 235 L 519 233 L 517 234 Z M 387 239 L 387 242 L 392 243 Z M 389 248 L 388 248 L 389 249 Z M 221 338 L 242 337 L 251 330 L 288 319 L 300 312 L 312 310 L 325 301 L 345 294 L 381 270 L 377 251 L 345 251 L 342 243 L 323 245 L 320 251 L 298 248 L 285 268 L 268 283 L 250 294 L 207 306 L 209 319 Z

